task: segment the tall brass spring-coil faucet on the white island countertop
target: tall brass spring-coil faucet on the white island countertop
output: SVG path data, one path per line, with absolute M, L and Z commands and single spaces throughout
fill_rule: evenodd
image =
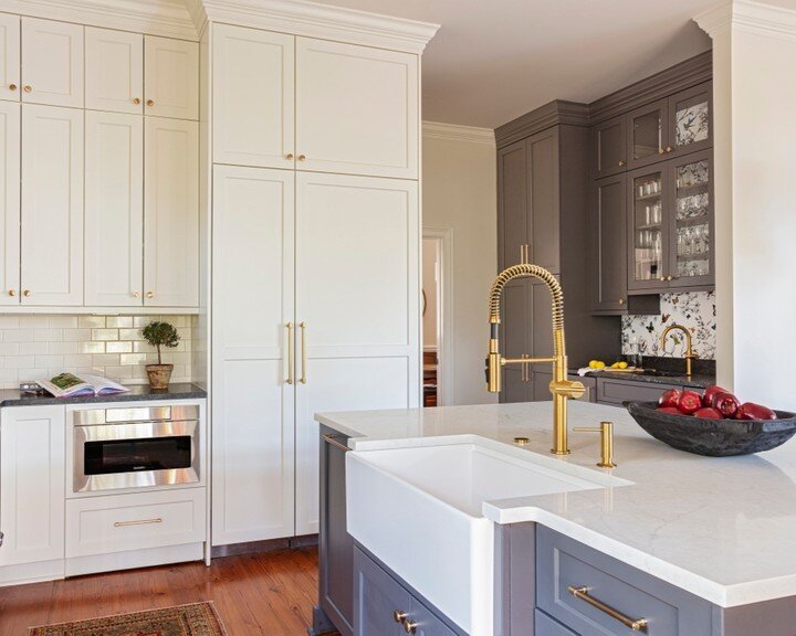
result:
M 553 357 L 506 359 L 500 353 L 499 325 L 503 288 L 514 278 L 538 278 L 549 289 L 553 298 Z M 580 382 L 567 380 L 567 357 L 564 341 L 564 293 L 556 277 L 538 265 L 521 263 L 501 272 L 490 292 L 490 344 L 486 358 L 486 389 L 500 393 L 501 369 L 505 364 L 533 364 L 551 362 L 553 380 L 549 390 L 553 394 L 553 448 L 555 455 L 567 455 L 567 400 L 583 396 L 586 389 Z

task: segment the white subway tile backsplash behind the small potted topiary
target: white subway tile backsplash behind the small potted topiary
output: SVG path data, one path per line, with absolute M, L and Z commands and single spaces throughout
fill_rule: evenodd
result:
M 52 378 L 63 371 L 146 383 L 145 364 L 157 352 L 142 336 L 153 320 L 177 327 L 182 340 L 164 352 L 175 363 L 174 382 L 191 380 L 193 320 L 190 316 L 0 316 L 0 388 Z

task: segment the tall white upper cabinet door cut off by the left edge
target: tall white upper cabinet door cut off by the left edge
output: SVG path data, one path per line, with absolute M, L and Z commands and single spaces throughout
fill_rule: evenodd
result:
M 20 105 L 0 103 L 0 305 L 20 299 Z

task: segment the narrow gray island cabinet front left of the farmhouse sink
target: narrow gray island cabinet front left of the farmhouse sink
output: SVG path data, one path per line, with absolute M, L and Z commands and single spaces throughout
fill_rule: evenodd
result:
M 354 634 L 354 540 L 346 531 L 345 454 L 348 438 L 321 426 L 318 605 L 313 634 Z

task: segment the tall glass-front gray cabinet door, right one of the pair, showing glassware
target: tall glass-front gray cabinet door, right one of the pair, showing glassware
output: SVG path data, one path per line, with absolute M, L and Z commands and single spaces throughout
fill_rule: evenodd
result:
M 668 162 L 671 222 L 666 277 L 670 287 L 712 285 L 713 162 L 696 152 Z M 671 277 L 671 278 L 670 278 Z

